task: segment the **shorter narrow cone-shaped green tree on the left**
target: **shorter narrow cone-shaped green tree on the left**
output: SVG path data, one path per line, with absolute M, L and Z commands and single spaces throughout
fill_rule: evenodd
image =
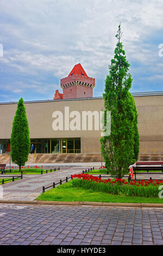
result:
M 30 150 L 30 138 L 28 119 L 26 115 L 26 107 L 21 98 L 17 103 L 17 110 L 14 121 L 12 123 L 11 132 L 11 159 L 13 163 L 21 166 L 28 161 L 28 154 Z

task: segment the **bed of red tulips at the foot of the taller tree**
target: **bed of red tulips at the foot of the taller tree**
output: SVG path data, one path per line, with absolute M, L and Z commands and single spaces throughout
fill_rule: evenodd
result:
M 124 179 L 104 180 L 89 174 L 75 174 L 72 178 L 73 187 L 83 187 L 125 196 L 158 197 L 158 188 L 163 185 L 163 180 L 141 180 L 128 183 Z

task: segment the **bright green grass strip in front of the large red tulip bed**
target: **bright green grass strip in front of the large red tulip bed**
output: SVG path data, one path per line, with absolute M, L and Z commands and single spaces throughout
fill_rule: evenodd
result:
M 130 197 L 72 187 L 72 181 L 42 193 L 36 200 L 61 202 L 163 203 L 160 198 Z

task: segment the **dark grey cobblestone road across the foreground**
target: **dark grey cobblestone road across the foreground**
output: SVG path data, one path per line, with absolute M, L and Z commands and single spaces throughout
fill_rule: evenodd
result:
M 163 209 L 0 204 L 0 245 L 163 245 Z

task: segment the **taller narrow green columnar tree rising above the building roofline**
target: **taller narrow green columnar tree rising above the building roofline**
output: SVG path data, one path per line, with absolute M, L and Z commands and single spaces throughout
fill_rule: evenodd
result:
M 122 178 L 128 173 L 128 167 L 139 154 L 139 133 L 137 130 L 137 112 L 129 89 L 132 78 L 123 50 L 121 24 L 118 26 L 118 39 L 114 59 L 109 65 L 109 75 L 105 80 L 104 106 L 111 112 L 111 133 L 101 138 L 101 150 L 105 165 L 111 176 Z

